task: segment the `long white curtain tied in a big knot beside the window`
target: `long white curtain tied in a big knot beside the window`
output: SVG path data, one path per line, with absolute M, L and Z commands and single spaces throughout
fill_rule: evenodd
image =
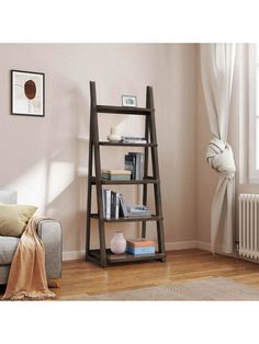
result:
M 235 62 L 234 44 L 202 44 L 202 85 L 212 140 L 206 160 L 219 174 L 212 202 L 211 249 L 232 253 L 234 245 L 235 161 L 227 144 L 229 106 Z

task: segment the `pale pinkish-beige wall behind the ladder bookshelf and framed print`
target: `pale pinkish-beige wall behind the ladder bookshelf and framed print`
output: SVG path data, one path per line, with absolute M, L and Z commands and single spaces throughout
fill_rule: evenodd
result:
M 108 104 L 135 94 L 145 105 L 145 88 L 154 87 L 166 241 L 195 239 L 195 45 L 1 44 L 0 56 L 0 186 L 18 190 L 19 203 L 38 205 L 38 213 L 61 221 L 65 257 L 85 246 L 89 80 L 97 82 L 98 102 Z M 45 73 L 44 118 L 10 115 L 11 69 Z M 114 124 L 140 134 L 136 121 L 102 117 L 100 137 Z M 103 167 L 123 168 L 125 152 L 105 148 Z M 137 202 L 138 191 L 127 188 L 125 197 Z

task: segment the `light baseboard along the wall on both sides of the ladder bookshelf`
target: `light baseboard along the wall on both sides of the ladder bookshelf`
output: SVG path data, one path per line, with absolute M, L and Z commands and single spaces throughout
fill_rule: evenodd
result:
M 200 249 L 211 251 L 211 244 L 207 242 L 187 240 L 178 242 L 166 242 L 166 251 Z M 63 261 L 76 261 L 85 259 L 85 251 L 65 251 L 63 252 Z

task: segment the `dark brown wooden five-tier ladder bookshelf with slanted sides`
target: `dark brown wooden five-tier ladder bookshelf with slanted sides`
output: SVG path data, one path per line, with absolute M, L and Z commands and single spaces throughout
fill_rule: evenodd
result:
M 127 263 L 135 261 L 154 261 L 158 260 L 166 262 L 165 237 L 164 237 L 164 218 L 161 207 L 160 179 L 157 151 L 157 136 L 155 124 L 155 108 L 153 88 L 146 89 L 146 107 L 128 107 L 128 106 L 111 106 L 98 105 L 95 82 L 90 81 L 90 135 L 89 135 L 89 162 L 88 162 L 88 199 L 87 199 L 87 230 L 86 230 L 86 260 L 94 262 L 102 267 L 117 263 Z M 103 114 L 124 114 L 124 115 L 143 115 L 145 116 L 145 139 L 147 144 L 124 144 L 99 140 L 99 124 L 98 116 Z M 144 148 L 144 177 L 143 180 L 125 180 L 125 181 L 109 181 L 101 177 L 101 159 L 100 147 L 143 147 Z M 148 156 L 150 150 L 153 175 L 148 175 Z M 95 175 L 93 175 L 93 163 Z M 147 185 L 154 185 L 155 214 L 148 217 L 120 217 L 119 219 L 105 219 L 103 215 L 102 203 L 102 186 L 103 185 L 136 185 L 143 187 L 143 204 L 147 205 Z M 92 188 L 97 192 L 97 208 L 98 213 L 91 211 Z M 98 221 L 99 243 L 98 250 L 91 249 L 91 221 Z M 157 245 L 158 250 L 155 254 L 133 255 L 133 254 L 113 254 L 105 243 L 105 225 L 111 222 L 142 222 L 142 238 L 146 238 L 147 222 L 156 221 L 157 227 Z

